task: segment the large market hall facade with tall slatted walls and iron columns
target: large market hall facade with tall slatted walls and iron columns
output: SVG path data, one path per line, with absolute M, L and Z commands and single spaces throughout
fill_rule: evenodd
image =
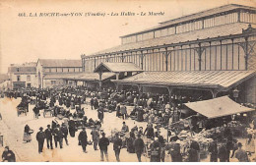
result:
M 134 63 L 144 72 L 112 82 L 169 96 L 197 91 L 208 98 L 236 97 L 238 90 L 239 102 L 255 104 L 255 24 L 255 8 L 234 4 L 184 16 L 121 36 L 119 46 L 82 55 L 83 71 L 94 72 L 100 63 Z M 156 75 L 162 78 L 153 80 Z M 168 81 L 178 76 L 184 79 Z

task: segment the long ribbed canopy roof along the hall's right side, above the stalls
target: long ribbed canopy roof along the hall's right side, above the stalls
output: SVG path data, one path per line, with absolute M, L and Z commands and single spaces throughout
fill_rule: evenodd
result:
M 163 85 L 226 91 L 256 75 L 254 71 L 144 72 L 114 83 Z

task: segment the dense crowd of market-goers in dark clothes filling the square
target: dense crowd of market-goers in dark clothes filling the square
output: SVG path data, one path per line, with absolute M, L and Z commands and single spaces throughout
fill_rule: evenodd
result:
M 76 132 L 82 130 L 78 135 L 78 143 L 87 153 L 87 145 L 92 144 L 94 149 L 97 146 L 100 149 L 100 160 L 108 161 L 107 147 L 110 142 L 113 142 L 113 150 L 115 152 L 116 161 L 120 161 L 120 150 L 126 148 L 129 153 L 136 153 L 138 161 L 142 161 L 142 155 L 150 157 L 152 162 L 164 162 L 165 153 L 171 156 L 173 162 L 200 161 L 200 143 L 192 140 L 186 151 L 186 155 L 181 151 L 180 139 L 177 135 L 181 131 L 178 128 L 172 127 L 173 123 L 180 121 L 184 114 L 182 108 L 184 103 L 190 101 L 202 100 L 202 96 L 186 96 L 186 95 L 171 95 L 139 93 L 137 90 L 127 89 L 120 92 L 112 88 L 93 89 L 84 86 L 63 87 L 63 88 L 47 88 L 47 89 L 26 89 L 23 91 L 6 92 L 7 97 L 22 97 L 20 106 L 24 106 L 29 111 L 29 104 L 34 103 L 33 108 L 34 118 L 39 118 L 40 110 L 61 121 L 53 120 L 47 125 L 45 131 L 42 127 L 36 134 L 38 141 L 38 153 L 43 150 L 44 141 L 47 142 L 47 148 L 53 149 L 53 139 L 55 148 L 63 147 L 63 138 L 69 145 L 68 137 L 75 138 Z M 88 100 L 87 100 L 88 99 Z M 98 120 L 93 120 L 85 113 L 83 104 L 88 104 L 91 110 L 97 111 Z M 128 112 L 127 107 L 133 106 L 133 110 Z M 104 131 L 101 129 L 103 125 L 104 113 L 116 111 L 116 117 L 123 119 L 123 127 L 110 138 L 107 138 Z M 126 125 L 126 119 L 136 120 L 137 122 L 147 122 L 147 128 L 134 127 L 129 130 Z M 222 125 L 226 125 L 224 121 Z M 254 124 L 256 130 L 256 120 L 251 119 L 248 123 Z M 211 123 L 211 127 L 216 127 Z M 184 129 L 190 130 L 191 134 L 199 133 L 204 127 L 200 126 L 197 120 L 191 121 L 191 126 Z M 162 136 L 160 128 L 167 129 L 167 138 Z M 242 148 L 242 143 L 233 138 L 232 133 L 227 127 L 224 127 L 224 135 L 222 142 L 217 138 L 209 144 L 208 152 L 210 161 L 212 162 L 228 162 L 230 151 L 231 157 L 235 157 L 238 161 L 249 161 L 248 155 L 255 152 L 254 134 L 248 134 L 245 150 Z M 86 129 L 91 129 L 93 141 L 88 140 Z M 24 141 L 32 140 L 31 134 L 33 131 L 30 126 L 26 125 L 24 132 Z M 69 135 L 69 136 L 68 136 Z M 173 145 L 168 142 L 172 142 Z

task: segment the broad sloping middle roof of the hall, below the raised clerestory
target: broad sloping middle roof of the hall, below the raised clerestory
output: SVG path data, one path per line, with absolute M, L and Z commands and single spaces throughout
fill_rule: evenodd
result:
M 207 38 L 213 38 L 218 36 L 226 36 L 230 34 L 239 34 L 239 33 L 242 33 L 242 28 L 247 28 L 248 25 L 249 24 L 234 23 L 234 24 L 223 25 L 218 27 L 208 27 L 208 28 L 199 29 L 199 30 L 177 33 L 177 34 L 167 35 L 163 37 L 148 39 L 144 41 L 122 44 L 119 46 L 115 46 L 109 49 L 96 52 L 92 54 L 92 56 L 104 54 L 104 53 L 110 53 L 110 52 L 158 46 L 163 44 L 186 42 L 188 40 L 191 41 L 191 40 L 197 40 L 197 39 L 207 39 Z M 256 25 L 252 25 L 252 27 L 256 27 Z

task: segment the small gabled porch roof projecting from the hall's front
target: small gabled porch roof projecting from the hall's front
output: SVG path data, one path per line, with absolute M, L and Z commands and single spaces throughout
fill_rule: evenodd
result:
M 143 70 L 134 63 L 100 63 L 96 69 L 97 72 L 111 72 L 111 73 L 120 73 L 120 72 L 142 72 Z

